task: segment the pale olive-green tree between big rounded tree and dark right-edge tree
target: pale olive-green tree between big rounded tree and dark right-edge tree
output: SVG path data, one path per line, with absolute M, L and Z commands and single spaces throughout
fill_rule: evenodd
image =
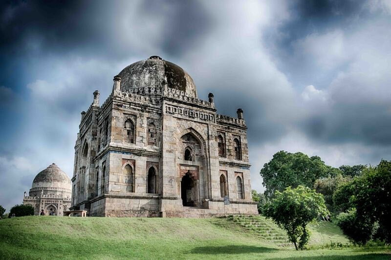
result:
M 327 209 L 330 212 L 341 212 L 334 208 L 333 195 L 338 186 L 343 183 L 347 183 L 350 180 L 350 176 L 344 177 L 341 173 L 338 173 L 335 177 L 315 180 L 314 189 L 317 193 L 320 193 L 324 196 Z

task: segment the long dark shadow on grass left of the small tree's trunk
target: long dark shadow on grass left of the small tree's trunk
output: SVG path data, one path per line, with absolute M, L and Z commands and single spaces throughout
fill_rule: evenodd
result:
M 278 251 L 275 248 L 250 245 L 224 245 L 224 246 L 200 246 L 190 251 L 191 254 L 248 254 L 248 253 L 266 253 Z

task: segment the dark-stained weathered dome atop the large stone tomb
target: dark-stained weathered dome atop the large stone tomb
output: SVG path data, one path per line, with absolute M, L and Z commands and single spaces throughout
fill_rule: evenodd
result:
M 197 97 L 197 90 L 190 75 L 178 65 L 162 60 L 158 56 L 134 62 L 124 68 L 118 76 L 121 77 L 122 91 L 144 87 L 161 87 L 165 80 L 168 87 L 184 91 L 190 97 Z

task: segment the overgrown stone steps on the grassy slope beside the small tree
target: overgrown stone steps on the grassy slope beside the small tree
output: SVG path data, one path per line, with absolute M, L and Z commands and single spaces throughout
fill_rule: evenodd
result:
M 261 239 L 267 240 L 278 246 L 291 246 L 285 232 L 271 220 L 266 220 L 263 216 L 252 215 L 230 215 L 228 220 L 234 221 L 247 230 L 255 232 Z

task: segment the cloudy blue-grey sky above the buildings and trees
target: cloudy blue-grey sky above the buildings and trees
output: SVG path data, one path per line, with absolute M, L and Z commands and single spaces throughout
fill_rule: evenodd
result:
M 72 174 L 80 112 L 159 55 L 218 113 L 244 110 L 253 188 L 280 150 L 328 165 L 391 160 L 391 0 L 1 1 L 0 204 L 56 162 Z

